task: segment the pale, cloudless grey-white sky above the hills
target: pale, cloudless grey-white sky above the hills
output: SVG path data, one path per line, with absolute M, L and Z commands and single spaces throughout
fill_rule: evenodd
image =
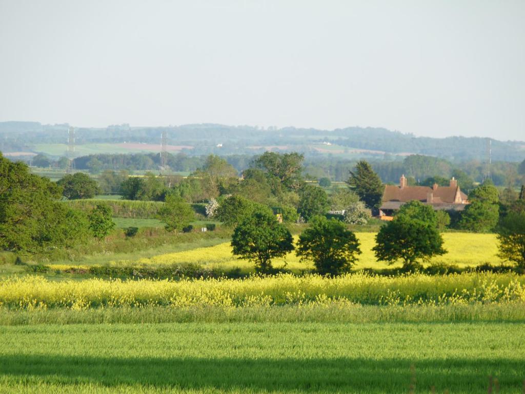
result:
M 523 0 L 0 0 L 0 121 L 525 140 Z

